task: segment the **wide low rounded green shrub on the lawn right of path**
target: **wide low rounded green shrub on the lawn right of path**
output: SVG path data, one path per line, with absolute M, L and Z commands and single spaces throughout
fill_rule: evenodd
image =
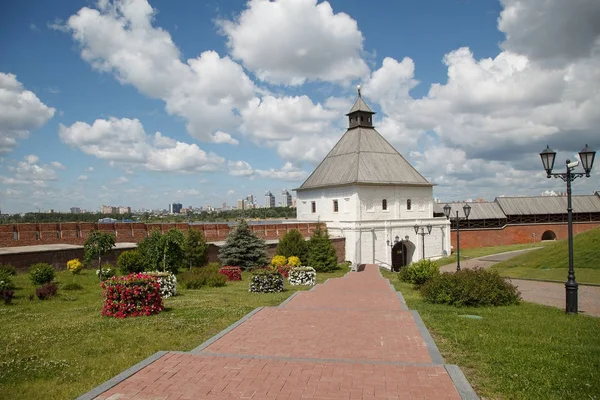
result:
M 443 273 L 421 286 L 430 303 L 461 306 L 503 306 L 518 304 L 521 294 L 516 286 L 496 271 L 482 268 Z

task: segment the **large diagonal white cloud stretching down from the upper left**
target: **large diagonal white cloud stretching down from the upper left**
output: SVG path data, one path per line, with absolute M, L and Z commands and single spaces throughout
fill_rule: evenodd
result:
M 215 132 L 237 126 L 236 110 L 252 98 L 254 84 L 240 65 L 215 51 L 181 61 L 170 34 L 152 25 L 154 14 L 145 0 L 103 1 L 98 9 L 80 9 L 66 25 L 95 69 L 162 99 L 195 138 L 223 140 Z

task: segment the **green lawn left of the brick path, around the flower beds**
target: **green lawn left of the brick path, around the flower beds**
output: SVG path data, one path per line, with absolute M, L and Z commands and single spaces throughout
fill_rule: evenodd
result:
M 322 283 L 348 269 L 317 274 Z M 151 317 L 102 317 L 95 271 L 75 277 L 81 291 L 59 289 L 57 297 L 29 300 L 34 287 L 26 274 L 12 305 L 0 304 L 0 398 L 72 399 L 159 350 L 189 351 L 256 307 L 277 306 L 302 287 L 283 293 L 248 292 L 243 281 L 223 288 L 179 290 L 166 310 Z M 62 285 L 73 281 L 58 274 Z

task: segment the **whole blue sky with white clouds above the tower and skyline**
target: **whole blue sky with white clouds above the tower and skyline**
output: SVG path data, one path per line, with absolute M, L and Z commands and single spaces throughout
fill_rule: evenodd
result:
M 434 197 L 564 192 L 539 152 L 600 151 L 600 2 L 2 2 L 0 209 L 279 200 L 357 84 Z

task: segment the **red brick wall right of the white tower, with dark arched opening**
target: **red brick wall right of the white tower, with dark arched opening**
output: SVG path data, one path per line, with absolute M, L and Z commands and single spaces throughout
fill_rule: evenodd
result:
M 574 223 L 573 233 L 581 232 L 600 226 L 598 222 Z M 568 236 L 568 225 L 565 224 L 531 224 L 531 225 L 508 225 L 502 229 L 461 229 L 460 248 L 472 249 L 478 247 L 504 246 L 508 244 L 533 243 L 532 233 L 535 233 L 535 241 L 542 240 L 546 231 L 556 234 L 556 240 L 566 239 Z M 456 250 L 456 231 L 451 232 L 451 241 Z

